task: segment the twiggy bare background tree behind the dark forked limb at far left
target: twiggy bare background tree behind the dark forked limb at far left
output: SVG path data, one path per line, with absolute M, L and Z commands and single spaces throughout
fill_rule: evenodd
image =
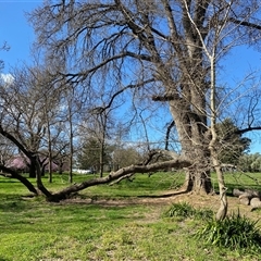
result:
M 34 71 L 36 74 L 37 72 Z M 13 83 L 0 88 L 1 126 L 26 150 L 38 154 L 46 135 L 41 87 L 30 70 L 16 70 Z M 29 175 L 36 176 L 36 166 L 29 159 Z

